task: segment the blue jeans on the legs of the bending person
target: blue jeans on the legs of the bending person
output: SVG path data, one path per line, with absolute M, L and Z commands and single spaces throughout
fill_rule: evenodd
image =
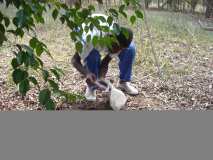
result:
M 121 81 L 131 81 L 132 67 L 135 60 L 135 44 L 132 42 L 129 48 L 123 49 L 119 54 L 119 70 Z M 99 51 L 93 49 L 89 56 L 85 59 L 85 64 L 88 70 L 98 77 L 99 69 L 101 65 L 101 56 Z

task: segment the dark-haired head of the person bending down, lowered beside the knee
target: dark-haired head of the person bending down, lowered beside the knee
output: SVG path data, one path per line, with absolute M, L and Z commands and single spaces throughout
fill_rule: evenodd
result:
M 129 28 L 120 27 L 119 34 L 115 35 L 117 42 L 112 43 L 111 52 L 119 53 L 122 49 L 128 48 L 133 40 L 133 32 Z

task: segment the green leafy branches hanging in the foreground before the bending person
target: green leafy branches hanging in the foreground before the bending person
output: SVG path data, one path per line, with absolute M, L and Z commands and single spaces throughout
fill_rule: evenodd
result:
M 137 0 L 123 0 L 120 7 L 107 9 L 105 11 L 109 15 L 107 19 L 102 16 L 91 17 L 92 13 L 95 12 L 95 6 L 93 5 L 82 8 L 76 4 L 70 7 L 57 0 L 46 0 L 43 2 L 37 0 L 0 0 L 0 3 L 5 3 L 6 8 L 13 5 L 17 9 L 16 15 L 13 18 L 7 17 L 0 11 L 0 46 L 5 41 L 9 41 L 8 36 L 10 34 L 14 37 L 23 38 L 26 33 L 33 33 L 29 44 L 13 44 L 14 58 L 11 60 L 13 81 L 18 86 L 19 92 L 23 97 L 26 96 L 33 85 L 36 86 L 39 90 L 38 100 L 47 110 L 55 110 L 53 97 L 64 97 L 66 100 L 76 100 L 82 97 L 60 89 L 59 83 L 61 76 L 64 74 L 63 70 L 57 67 L 50 69 L 44 67 L 41 55 L 47 54 L 51 58 L 52 56 L 48 46 L 37 37 L 35 29 L 36 24 L 45 24 L 45 12 L 51 11 L 54 20 L 59 19 L 61 24 L 67 25 L 70 29 L 68 34 L 70 34 L 70 38 L 79 52 L 83 47 L 80 39 L 84 31 L 88 33 L 95 27 L 102 33 L 111 32 L 114 37 L 95 36 L 91 38 L 91 35 L 87 36 L 87 42 L 91 41 L 94 46 L 110 47 L 111 43 L 115 41 L 116 33 L 124 32 L 125 34 L 125 30 L 122 30 L 116 23 L 113 24 L 114 20 L 118 19 L 120 15 L 128 19 L 132 24 L 136 22 L 137 18 L 143 19 L 143 13 L 140 11 L 141 6 Z M 128 7 L 134 9 L 133 14 L 129 17 L 125 12 Z M 100 22 L 104 22 L 107 25 L 102 26 Z M 83 23 L 86 24 L 85 27 L 83 27 Z M 113 31 L 109 29 L 112 24 Z M 38 81 L 39 77 L 33 75 L 33 72 L 30 72 L 30 70 L 41 75 L 42 83 Z

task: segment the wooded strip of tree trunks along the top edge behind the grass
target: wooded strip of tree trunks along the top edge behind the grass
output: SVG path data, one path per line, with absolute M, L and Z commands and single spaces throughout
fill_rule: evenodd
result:
M 119 5 L 121 0 L 62 0 L 69 5 L 75 3 L 90 4 L 97 3 L 113 6 Z M 212 0 L 140 0 L 146 9 L 171 10 L 181 12 L 205 13 L 206 18 L 213 18 Z

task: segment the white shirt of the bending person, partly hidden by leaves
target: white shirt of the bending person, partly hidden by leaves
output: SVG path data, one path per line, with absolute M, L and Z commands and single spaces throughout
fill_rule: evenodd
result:
M 106 15 L 104 15 L 104 14 L 92 14 L 92 17 L 96 17 L 96 16 L 102 16 L 102 17 L 104 17 L 106 20 L 107 20 L 107 18 L 108 18 L 108 16 L 106 16 Z M 101 25 L 101 26 L 108 26 L 108 27 L 110 27 L 110 29 L 113 28 L 113 23 L 112 23 L 111 26 L 109 26 L 108 23 L 103 23 L 102 21 L 100 21 L 100 25 Z M 83 28 L 84 28 L 84 27 L 86 26 L 86 24 L 83 24 L 82 26 L 83 26 Z M 102 35 L 103 35 L 103 36 L 104 36 L 105 34 L 106 34 L 105 32 L 102 32 Z M 91 35 L 91 41 L 90 41 L 89 43 L 86 42 L 86 39 L 87 39 L 87 36 L 88 36 L 88 35 Z M 95 27 L 94 27 L 93 31 L 90 31 L 90 30 L 89 30 L 88 33 L 83 32 L 83 34 L 82 34 L 83 49 L 82 49 L 82 52 L 80 53 L 80 57 L 81 57 L 81 59 L 82 59 L 83 61 L 87 58 L 87 56 L 90 54 L 90 52 L 91 52 L 94 48 L 95 48 L 96 50 L 98 50 L 99 52 L 103 52 L 103 53 L 105 53 L 105 54 L 109 54 L 109 53 L 108 53 L 108 49 L 107 49 L 106 47 L 101 47 L 101 46 L 96 46 L 96 47 L 94 47 L 93 44 L 92 44 L 92 39 L 93 39 L 93 37 L 94 37 L 94 36 L 100 36 L 100 35 L 101 35 L 101 32 L 100 32 L 97 28 L 95 28 Z

